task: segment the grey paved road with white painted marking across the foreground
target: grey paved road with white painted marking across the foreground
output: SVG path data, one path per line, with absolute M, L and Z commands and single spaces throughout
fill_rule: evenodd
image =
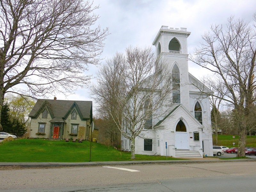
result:
M 235 192 L 255 191 L 255 180 L 256 162 L 252 161 L 111 165 L 0 170 L 0 191 Z

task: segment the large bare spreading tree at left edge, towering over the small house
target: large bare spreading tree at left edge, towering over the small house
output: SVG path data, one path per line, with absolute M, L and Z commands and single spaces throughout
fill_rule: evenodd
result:
M 0 111 L 7 92 L 44 96 L 87 86 L 84 71 L 98 63 L 108 33 L 92 28 L 98 7 L 83 0 L 0 3 Z

